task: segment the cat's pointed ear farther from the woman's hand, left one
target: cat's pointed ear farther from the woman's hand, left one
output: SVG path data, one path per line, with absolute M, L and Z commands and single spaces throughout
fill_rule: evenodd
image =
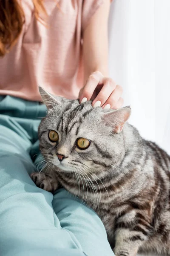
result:
M 39 86 L 39 92 L 41 94 L 42 100 L 47 108 L 52 108 L 55 105 L 61 104 L 61 99 L 58 96 L 53 96 L 51 93 L 48 93 L 45 89 Z

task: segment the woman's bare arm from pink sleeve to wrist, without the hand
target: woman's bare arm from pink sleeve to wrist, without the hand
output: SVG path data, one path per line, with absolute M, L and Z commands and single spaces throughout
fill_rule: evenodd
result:
M 95 71 L 108 76 L 108 15 L 110 0 L 91 18 L 83 34 L 83 61 L 85 81 Z

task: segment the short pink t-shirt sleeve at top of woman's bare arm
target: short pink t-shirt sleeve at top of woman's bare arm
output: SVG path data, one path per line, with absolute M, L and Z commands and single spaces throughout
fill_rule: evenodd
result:
M 104 0 L 83 0 L 82 3 L 82 31 L 87 27 L 90 18 L 104 3 Z

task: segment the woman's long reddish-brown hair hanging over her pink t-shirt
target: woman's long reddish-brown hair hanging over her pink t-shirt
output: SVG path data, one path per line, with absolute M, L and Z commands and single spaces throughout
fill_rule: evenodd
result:
M 43 0 L 32 1 L 35 17 L 43 23 L 40 13 L 47 15 Z M 20 2 L 19 0 L 0 0 L 0 56 L 9 52 L 22 31 L 25 15 Z

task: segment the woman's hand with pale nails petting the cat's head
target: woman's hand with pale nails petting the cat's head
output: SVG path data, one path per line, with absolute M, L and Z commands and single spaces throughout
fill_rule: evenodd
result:
M 123 105 L 122 87 L 109 77 L 104 77 L 102 73 L 96 71 L 92 73 L 79 92 L 79 102 L 83 103 L 92 99 L 94 108 L 102 106 L 103 109 L 121 108 Z

